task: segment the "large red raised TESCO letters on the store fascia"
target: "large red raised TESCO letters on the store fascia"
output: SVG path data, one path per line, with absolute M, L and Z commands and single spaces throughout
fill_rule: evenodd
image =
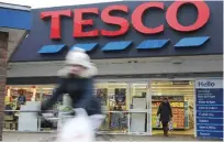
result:
M 179 23 L 177 14 L 178 10 L 186 4 L 193 4 L 198 9 L 198 19 L 191 25 L 182 25 Z M 127 33 L 131 28 L 134 28 L 137 32 L 143 34 L 156 34 L 161 33 L 165 30 L 165 24 L 160 23 L 156 28 L 149 28 L 143 23 L 143 14 L 148 9 L 159 9 L 166 11 L 166 22 L 168 25 L 178 32 L 191 32 L 197 31 L 206 24 L 210 18 L 210 8 L 204 1 L 175 1 L 167 9 L 165 9 L 164 2 L 144 2 L 137 6 L 132 12 L 128 11 L 128 7 L 125 4 L 115 4 L 105 7 L 102 11 L 99 8 L 83 8 L 74 10 L 59 10 L 59 11 L 44 11 L 41 12 L 41 19 L 45 20 L 49 18 L 51 23 L 51 39 L 61 39 L 60 35 L 60 20 L 61 17 L 71 18 L 74 21 L 72 36 L 74 37 L 94 37 L 94 36 L 121 36 Z M 111 12 L 124 12 L 131 14 L 131 21 L 117 15 L 111 15 Z M 85 14 L 96 14 L 101 18 L 101 21 L 107 24 L 119 25 L 116 31 L 109 31 L 107 29 L 93 29 L 91 31 L 83 31 L 83 26 L 93 25 L 92 19 L 83 19 Z M 131 26 L 132 25 L 132 26 Z

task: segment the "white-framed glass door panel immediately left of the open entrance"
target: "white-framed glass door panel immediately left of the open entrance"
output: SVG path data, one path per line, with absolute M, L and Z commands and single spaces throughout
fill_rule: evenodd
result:
M 149 90 L 148 83 L 130 84 L 130 133 L 148 134 L 150 130 L 149 121 Z

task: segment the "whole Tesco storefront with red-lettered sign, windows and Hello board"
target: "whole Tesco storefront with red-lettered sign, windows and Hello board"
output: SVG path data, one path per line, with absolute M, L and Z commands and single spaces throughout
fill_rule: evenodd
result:
M 79 46 L 99 68 L 94 92 L 108 113 L 100 132 L 160 134 L 156 111 L 168 97 L 171 134 L 223 138 L 222 1 L 110 2 L 33 9 L 32 14 L 32 30 L 8 67 L 11 109 L 21 96 L 23 110 L 51 96 L 66 53 Z M 122 106 L 115 96 L 124 98 Z M 32 120 L 23 123 L 21 113 L 18 128 L 5 129 L 56 129 Z

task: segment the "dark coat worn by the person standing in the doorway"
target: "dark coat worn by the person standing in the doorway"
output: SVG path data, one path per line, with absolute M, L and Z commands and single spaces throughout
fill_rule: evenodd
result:
M 160 114 L 161 122 L 168 122 L 172 118 L 172 109 L 169 102 L 161 102 L 159 105 L 157 116 Z

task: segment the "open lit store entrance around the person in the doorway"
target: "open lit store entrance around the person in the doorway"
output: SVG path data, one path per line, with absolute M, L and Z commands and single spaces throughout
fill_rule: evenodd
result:
M 163 98 L 168 98 L 172 109 L 173 130 L 169 134 L 194 134 L 193 96 L 194 83 L 189 80 L 150 81 L 152 95 L 152 134 L 163 134 L 161 124 L 158 127 L 157 111 Z

